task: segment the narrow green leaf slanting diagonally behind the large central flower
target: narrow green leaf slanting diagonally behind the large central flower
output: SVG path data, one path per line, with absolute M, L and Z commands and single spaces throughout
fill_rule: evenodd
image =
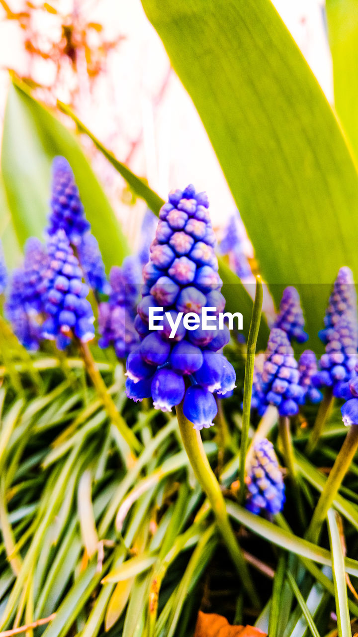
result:
M 152 210 L 156 215 L 159 214 L 159 210 L 161 206 L 164 204 L 163 199 L 157 195 L 154 190 L 150 189 L 143 180 L 134 175 L 127 166 L 119 162 L 114 156 L 113 153 L 110 152 L 107 148 L 101 144 L 99 140 L 94 136 L 92 132 L 81 122 L 81 120 L 68 108 L 65 104 L 59 102 L 57 104 L 59 108 L 69 115 L 76 125 L 80 129 L 80 131 L 85 132 L 89 136 L 89 138 L 94 141 L 98 150 L 100 150 L 104 157 L 111 162 L 112 166 L 124 177 L 129 186 L 134 190 L 138 197 L 141 197 L 145 200 L 148 205 L 148 208 Z M 229 268 L 224 259 L 218 258 L 219 263 L 219 275 L 222 278 L 224 283 L 222 287 L 222 294 L 224 294 L 226 298 L 226 311 L 236 312 L 240 311 L 243 315 L 243 333 L 245 336 L 248 335 L 248 330 L 250 328 L 250 318 L 252 313 L 252 298 L 250 294 L 248 294 L 247 290 L 243 287 L 240 278 L 236 276 L 236 274 Z M 253 292 L 255 293 L 254 286 Z M 268 340 L 268 326 L 264 317 L 261 318 L 261 326 L 259 331 L 259 338 L 257 340 L 258 349 L 265 349 Z

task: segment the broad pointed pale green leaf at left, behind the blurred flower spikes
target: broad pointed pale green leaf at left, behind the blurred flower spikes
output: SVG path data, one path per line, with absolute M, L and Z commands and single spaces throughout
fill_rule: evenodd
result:
M 108 199 L 75 137 L 24 89 L 13 84 L 4 119 L 1 166 L 13 225 L 20 244 L 43 237 L 55 155 L 68 159 L 106 268 L 120 264 L 127 245 Z

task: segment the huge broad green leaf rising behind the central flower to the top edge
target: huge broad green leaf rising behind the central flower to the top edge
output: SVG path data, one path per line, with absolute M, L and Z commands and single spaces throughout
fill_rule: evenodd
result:
M 262 275 L 276 301 L 297 285 L 314 340 L 322 284 L 342 265 L 358 274 L 357 172 L 333 111 L 269 0 L 142 4 L 203 120 Z

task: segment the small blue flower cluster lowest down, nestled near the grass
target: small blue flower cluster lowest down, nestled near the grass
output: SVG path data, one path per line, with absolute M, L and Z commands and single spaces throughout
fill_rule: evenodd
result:
M 254 446 L 245 482 L 248 489 L 246 508 L 259 515 L 280 513 L 285 504 L 282 471 L 269 440 L 263 438 Z

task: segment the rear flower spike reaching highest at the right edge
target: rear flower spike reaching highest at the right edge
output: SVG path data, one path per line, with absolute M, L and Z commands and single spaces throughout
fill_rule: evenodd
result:
M 357 318 L 357 293 L 353 273 L 350 268 L 340 268 L 333 284 L 333 290 L 329 297 L 326 315 L 324 317 L 325 328 L 320 330 L 319 337 L 323 343 L 327 343 L 330 334 L 341 316 L 346 313 Z

